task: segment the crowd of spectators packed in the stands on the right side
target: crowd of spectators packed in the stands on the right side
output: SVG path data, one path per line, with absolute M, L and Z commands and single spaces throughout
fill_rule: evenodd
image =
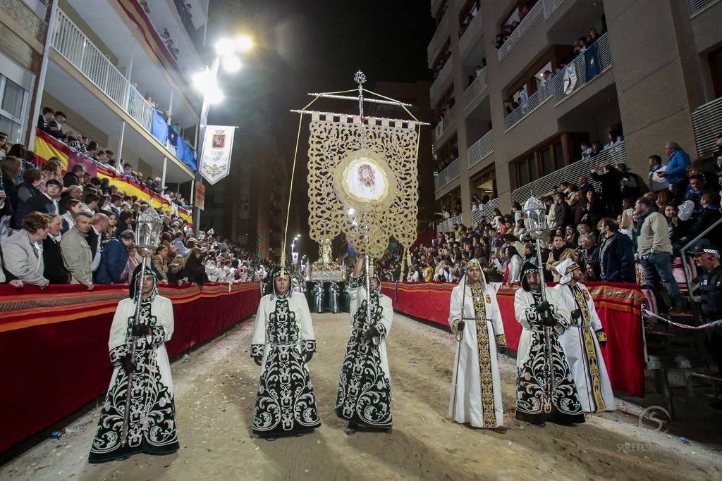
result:
M 689 154 L 670 141 L 664 146 L 665 162 L 656 154 L 649 157 L 646 179 L 625 164 L 609 165 L 591 169 L 576 183 L 562 182 L 541 197 L 547 207 L 541 252 L 547 281 L 557 280 L 554 268 L 570 258 L 583 268 L 586 281 L 640 283 L 653 291 L 661 312 L 683 315 L 672 262 L 682 247 L 722 219 L 722 135 L 717 145 L 720 160 L 710 172 L 692 165 Z M 474 202 L 483 204 L 478 197 Z M 720 239 L 722 225 L 696 243 L 709 245 Z M 399 280 L 402 256 L 401 249 L 391 250 L 378 262 L 384 280 Z M 405 280 L 458 281 L 471 258 L 482 263 L 488 281 L 520 281 L 524 260 L 536 262 L 536 243 L 526 230 L 519 203 L 505 215 L 497 208 L 491 219 L 481 216 L 470 227 L 455 224 L 453 231 L 419 246 L 410 262 L 405 260 Z

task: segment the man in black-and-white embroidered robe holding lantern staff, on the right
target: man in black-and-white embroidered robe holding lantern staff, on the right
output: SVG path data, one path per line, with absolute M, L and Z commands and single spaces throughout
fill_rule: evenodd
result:
M 539 268 L 531 262 L 521 268 L 521 287 L 514 294 L 514 313 L 523 327 L 516 357 L 516 418 L 540 426 L 547 420 L 583 423 L 577 389 L 558 339 L 569 325 L 570 313 L 554 289 L 542 286 Z

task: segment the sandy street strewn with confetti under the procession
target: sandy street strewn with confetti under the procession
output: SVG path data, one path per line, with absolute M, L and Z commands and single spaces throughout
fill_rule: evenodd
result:
M 59 440 L 0 467 L 4 479 L 389 480 L 598 478 L 711 480 L 722 456 L 707 446 L 640 427 L 622 412 L 585 425 L 537 428 L 514 420 L 515 369 L 503 358 L 505 423 L 497 434 L 445 419 L 455 344 L 451 335 L 397 315 L 388 340 L 396 405 L 393 433 L 347 436 L 333 412 L 349 333 L 348 314 L 314 314 L 310 362 L 323 425 L 303 437 L 251 438 L 259 369 L 248 356 L 253 319 L 173 363 L 178 437 L 171 456 L 87 463 L 97 410 Z M 77 430 L 77 431 L 76 431 Z M 628 443 L 628 444 L 627 444 Z M 627 451 L 627 452 L 625 452 Z

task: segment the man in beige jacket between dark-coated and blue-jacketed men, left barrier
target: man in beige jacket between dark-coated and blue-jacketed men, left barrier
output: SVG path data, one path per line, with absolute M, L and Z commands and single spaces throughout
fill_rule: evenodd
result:
M 71 274 L 71 284 L 83 284 L 92 291 L 92 252 L 85 238 L 92 229 L 92 213 L 80 211 L 75 214 L 74 225 L 60 241 L 65 266 Z

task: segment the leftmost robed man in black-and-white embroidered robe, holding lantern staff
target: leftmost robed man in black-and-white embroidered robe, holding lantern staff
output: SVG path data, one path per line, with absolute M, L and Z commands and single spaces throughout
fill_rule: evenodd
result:
M 157 278 L 142 265 L 133 271 L 128 299 L 118 303 L 110 326 L 110 378 L 100 420 L 97 423 L 88 461 L 100 463 L 126 458 L 136 453 L 170 454 L 178 451 L 175 433 L 173 379 L 165 342 L 173 335 L 173 304 L 158 294 Z M 142 298 L 136 314 L 137 290 Z M 135 355 L 131 347 L 135 340 Z M 127 443 L 121 445 L 126 392 L 132 373 L 131 405 Z

